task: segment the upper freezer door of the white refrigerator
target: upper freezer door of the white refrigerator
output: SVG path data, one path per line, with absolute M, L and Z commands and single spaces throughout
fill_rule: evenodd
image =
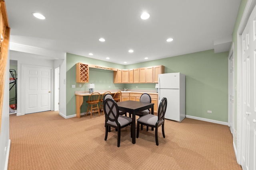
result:
M 158 88 L 180 88 L 180 73 L 158 74 Z

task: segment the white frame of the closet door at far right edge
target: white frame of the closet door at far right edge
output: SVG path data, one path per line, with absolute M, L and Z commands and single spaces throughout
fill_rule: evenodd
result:
M 248 0 L 246 7 L 244 8 L 244 13 L 242 15 L 240 24 L 237 30 L 237 85 L 236 85 L 236 118 L 237 118 L 237 141 L 236 146 L 234 145 L 234 151 L 236 154 L 236 161 L 238 164 L 242 162 L 242 33 L 246 27 L 249 20 L 250 14 L 254 6 L 256 5 L 256 0 Z

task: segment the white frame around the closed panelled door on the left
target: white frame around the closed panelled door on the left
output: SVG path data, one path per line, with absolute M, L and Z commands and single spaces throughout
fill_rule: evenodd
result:
M 26 106 L 26 100 L 25 100 L 25 97 L 26 97 L 26 94 L 25 94 L 25 91 L 26 91 L 26 87 L 25 87 L 25 67 L 36 67 L 36 68 L 46 68 L 46 69 L 50 69 L 51 70 L 51 89 L 52 91 L 54 91 L 54 88 L 53 88 L 53 67 L 48 67 L 48 66 L 37 66 L 37 65 L 30 65 L 30 64 L 21 64 L 21 115 L 25 115 L 25 106 Z M 54 100 L 53 100 L 53 92 L 51 92 L 51 102 L 50 102 L 50 109 L 53 110 L 53 106 L 54 106 Z

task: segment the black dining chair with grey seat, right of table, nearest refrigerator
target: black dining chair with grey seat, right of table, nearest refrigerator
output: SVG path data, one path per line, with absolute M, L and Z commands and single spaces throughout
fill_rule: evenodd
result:
M 165 138 L 164 134 L 164 115 L 166 112 L 167 107 L 167 99 L 162 98 L 159 107 L 158 107 L 158 114 L 152 115 L 147 114 L 137 119 L 137 138 L 139 137 L 139 131 L 140 131 L 140 124 L 148 127 L 154 127 L 155 128 L 155 138 L 156 138 L 156 145 L 158 146 L 158 127 L 162 125 L 162 133 L 163 137 Z

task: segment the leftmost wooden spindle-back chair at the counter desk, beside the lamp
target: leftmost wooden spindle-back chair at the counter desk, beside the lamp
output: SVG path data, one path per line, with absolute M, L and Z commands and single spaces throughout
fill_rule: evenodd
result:
M 96 112 L 98 112 L 98 114 L 100 116 L 100 109 L 99 109 L 99 106 L 98 106 L 99 101 L 100 101 L 100 93 L 94 92 L 89 96 L 88 101 L 86 101 L 88 103 L 86 116 L 87 116 L 87 113 L 88 113 L 89 109 L 90 109 L 90 112 L 91 112 L 91 117 L 90 118 L 92 118 L 92 113 L 95 114 Z

